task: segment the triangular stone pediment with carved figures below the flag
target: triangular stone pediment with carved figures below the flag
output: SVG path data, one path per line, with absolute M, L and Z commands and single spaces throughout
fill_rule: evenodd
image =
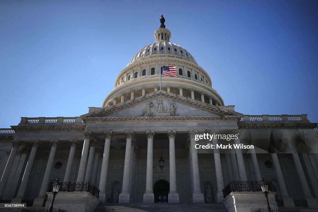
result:
M 157 91 L 82 115 L 93 117 L 225 117 L 243 114 L 179 95 Z

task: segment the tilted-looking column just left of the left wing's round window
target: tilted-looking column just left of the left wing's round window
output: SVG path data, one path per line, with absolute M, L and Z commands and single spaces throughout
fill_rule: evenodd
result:
M 45 192 L 49 186 L 50 175 L 51 175 L 51 170 L 52 170 L 52 166 L 53 166 L 53 162 L 54 162 L 55 152 L 56 152 L 56 148 L 58 146 L 59 146 L 58 140 L 51 140 L 51 151 L 50 151 L 49 159 L 48 159 L 47 164 L 46 164 L 45 173 L 44 173 L 44 177 L 43 177 L 43 181 L 42 181 L 42 185 L 41 185 L 41 189 L 40 189 L 40 193 L 38 195 L 38 198 L 45 197 L 45 195 L 46 195 Z

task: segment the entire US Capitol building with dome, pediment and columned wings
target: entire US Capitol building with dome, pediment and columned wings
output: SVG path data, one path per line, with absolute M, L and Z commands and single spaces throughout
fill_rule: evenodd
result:
M 168 202 L 245 212 L 267 208 L 255 186 L 264 177 L 272 208 L 318 211 L 317 123 L 304 114 L 243 115 L 226 106 L 209 74 L 170 42 L 160 21 L 155 43 L 118 73 L 102 107 L 79 117 L 22 117 L 0 129 L 1 201 L 50 207 L 50 185 L 59 177 L 54 205 L 69 211 Z M 161 89 L 160 51 L 161 65 L 178 72 L 162 75 Z M 238 139 L 196 141 L 202 133 Z M 255 148 L 196 149 L 197 142 Z

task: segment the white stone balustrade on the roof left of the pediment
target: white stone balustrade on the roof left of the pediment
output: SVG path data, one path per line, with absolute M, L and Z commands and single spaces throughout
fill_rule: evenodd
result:
M 82 124 L 81 117 L 21 117 L 19 125 L 44 125 L 44 124 Z

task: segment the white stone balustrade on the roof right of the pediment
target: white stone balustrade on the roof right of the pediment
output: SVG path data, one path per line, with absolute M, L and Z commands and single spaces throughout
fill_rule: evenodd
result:
M 301 115 L 243 115 L 241 122 L 308 122 L 307 114 Z

